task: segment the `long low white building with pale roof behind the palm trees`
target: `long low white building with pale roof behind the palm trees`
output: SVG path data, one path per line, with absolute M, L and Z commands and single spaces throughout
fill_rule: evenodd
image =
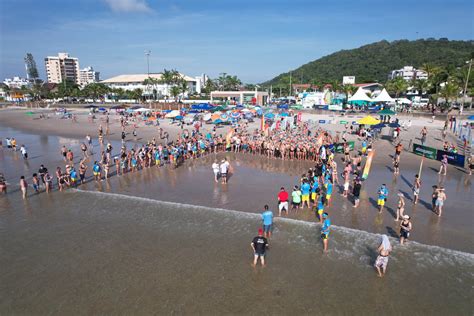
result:
M 188 91 L 184 93 L 184 96 L 193 93 L 201 93 L 201 83 L 198 84 L 196 78 L 192 78 L 181 74 L 181 77 L 186 81 L 188 85 Z M 144 81 L 147 78 L 156 79 L 158 82 L 162 80 L 161 74 L 132 74 L 132 75 L 119 75 L 109 79 L 100 81 L 101 83 L 114 89 L 123 89 L 127 91 L 141 89 L 143 95 L 153 95 L 156 93 L 157 97 L 171 96 L 171 85 L 165 83 L 157 83 L 155 85 L 145 85 Z M 155 91 L 154 91 L 155 90 Z

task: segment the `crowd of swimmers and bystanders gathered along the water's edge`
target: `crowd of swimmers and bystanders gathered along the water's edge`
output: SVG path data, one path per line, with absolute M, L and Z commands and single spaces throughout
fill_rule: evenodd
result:
M 102 125 L 98 130 L 98 145 L 100 151 L 98 159 L 94 159 L 92 137 L 87 135 L 85 141 L 80 145 L 81 157 L 75 159 L 74 152 L 65 145 L 60 149 L 60 154 L 65 162 L 64 170 L 57 166 L 54 174 L 41 165 L 37 172 L 31 176 L 31 187 L 35 193 L 41 190 L 47 193 L 51 192 L 55 185 L 59 191 L 68 187 L 76 187 L 88 181 L 87 172 L 89 166 L 92 169 L 92 181 L 107 180 L 114 172 L 120 176 L 126 173 L 138 172 L 139 170 L 151 167 L 162 167 L 169 165 L 171 168 L 177 168 L 186 160 L 197 159 L 209 154 L 219 152 L 247 153 L 252 155 L 262 155 L 267 158 L 276 158 L 283 160 L 305 160 L 314 162 L 314 168 L 310 168 L 301 176 L 299 185 L 287 192 L 281 187 L 278 193 L 278 215 L 287 215 L 290 212 L 298 213 L 303 209 L 314 211 L 316 218 L 321 223 L 321 239 L 323 242 L 323 251 L 328 250 L 329 235 L 331 230 L 331 220 L 328 209 L 331 207 L 331 199 L 334 193 L 340 193 L 345 198 L 352 197 L 353 207 L 359 207 L 360 193 L 362 190 L 362 162 L 364 156 L 373 150 L 374 138 L 370 130 L 358 129 L 352 130 L 352 126 L 346 128 L 342 135 L 337 133 L 335 136 L 321 128 L 312 128 L 307 122 L 302 122 L 292 126 L 288 122 L 283 122 L 275 129 L 250 130 L 247 124 L 239 124 L 230 129 L 226 135 L 218 134 L 214 127 L 212 131 L 203 133 L 200 131 L 199 124 L 190 132 L 188 129 L 182 129 L 178 137 L 174 140 L 169 139 L 169 134 L 162 128 L 159 128 L 159 136 L 152 138 L 140 145 L 130 146 L 126 141 L 126 126 L 123 119 L 120 121 L 122 128 L 121 147 L 114 152 L 110 142 L 105 142 L 105 136 L 109 134 L 109 119 L 106 120 L 105 131 Z M 351 154 L 351 146 L 348 142 L 348 134 L 357 133 L 360 140 L 360 150 Z M 399 133 L 399 132 L 398 132 Z M 427 130 L 424 128 L 421 132 L 422 143 L 426 140 Z M 136 140 L 136 126 L 133 126 L 133 137 Z M 397 135 L 399 136 L 399 135 Z M 7 139 L 7 148 L 13 151 L 17 150 L 16 140 Z M 338 170 L 338 164 L 335 156 L 336 151 L 342 153 L 342 172 Z M 401 142 L 395 146 L 395 155 L 393 158 L 394 174 L 398 175 L 400 170 L 400 157 L 403 150 Z M 28 159 L 26 147 L 22 145 L 20 152 L 24 159 Z M 78 160 L 78 162 L 77 162 Z M 469 164 L 471 166 L 471 163 Z M 224 158 L 220 163 L 215 160 L 212 164 L 215 182 L 222 179 L 226 184 L 229 174 L 232 173 L 230 163 Z M 446 174 L 447 161 L 442 161 L 440 173 Z M 472 168 L 470 168 L 472 170 Z M 28 180 L 30 181 L 30 180 Z M 20 177 L 19 187 L 23 198 L 28 197 L 28 188 L 30 187 L 25 176 Z M 420 189 L 422 186 L 419 175 L 415 176 L 413 182 L 413 202 L 418 202 Z M 0 192 L 7 192 L 7 183 L 3 174 L 0 174 Z M 385 184 L 377 191 L 377 205 L 379 212 L 382 213 L 387 201 L 389 192 Z M 400 244 L 404 244 L 409 238 L 413 225 L 409 215 L 405 214 L 405 200 L 402 193 L 398 194 L 398 207 L 395 221 L 400 221 Z M 441 216 L 446 193 L 443 187 L 433 187 L 432 206 L 433 210 Z M 291 200 L 291 203 L 290 203 Z M 262 214 L 263 225 L 259 230 L 258 236 L 251 243 L 254 251 L 253 264 L 256 265 L 258 259 L 262 265 L 265 264 L 265 250 L 268 247 L 268 239 L 273 230 L 273 212 L 265 205 Z M 386 238 L 380 243 L 379 257 L 375 266 L 378 274 L 382 276 L 385 273 L 388 256 L 391 251 L 391 245 Z

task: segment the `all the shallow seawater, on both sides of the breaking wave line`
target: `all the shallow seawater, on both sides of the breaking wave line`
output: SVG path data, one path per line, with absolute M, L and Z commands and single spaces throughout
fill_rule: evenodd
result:
M 396 235 L 398 227 L 371 199 L 382 182 L 389 209 L 397 190 L 410 194 L 418 165 L 408 156 L 394 178 L 390 159 L 376 155 L 359 209 L 333 194 L 327 255 L 314 214 L 304 210 L 276 219 L 268 266 L 253 269 L 255 213 L 264 204 L 276 209 L 280 186 L 290 188 L 310 164 L 227 154 L 235 171 L 222 185 L 213 181 L 211 155 L 23 201 L 15 192 L 19 175 L 41 163 L 63 167 L 61 145 L 77 155 L 82 140 L 0 128 L 0 137 L 12 135 L 31 158 L 0 150 L 0 172 L 12 183 L 0 196 L 2 314 L 472 314 L 474 201 L 470 178 L 454 168 L 438 178 L 430 169 L 437 163 L 425 162 L 424 203 L 407 201 L 411 240 L 401 247 L 391 239 L 388 274 L 379 279 L 375 233 Z M 448 194 L 442 218 L 424 205 L 439 181 Z

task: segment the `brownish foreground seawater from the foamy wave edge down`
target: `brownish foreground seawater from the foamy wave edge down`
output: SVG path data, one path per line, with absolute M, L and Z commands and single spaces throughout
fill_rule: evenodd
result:
M 474 256 L 411 242 L 387 275 L 380 235 L 278 218 L 251 267 L 258 214 L 113 193 L 2 199 L 2 314 L 472 314 Z

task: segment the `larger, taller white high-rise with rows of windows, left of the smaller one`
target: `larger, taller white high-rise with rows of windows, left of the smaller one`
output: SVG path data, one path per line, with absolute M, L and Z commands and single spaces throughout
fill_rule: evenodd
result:
M 48 82 L 61 83 L 68 79 L 81 84 L 78 58 L 69 57 L 68 53 L 59 53 L 58 56 L 46 57 L 44 62 Z

